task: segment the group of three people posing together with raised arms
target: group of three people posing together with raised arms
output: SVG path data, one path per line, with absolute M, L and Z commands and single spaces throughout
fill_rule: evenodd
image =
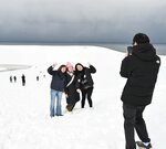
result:
M 84 108 L 87 97 L 90 107 L 93 107 L 93 78 L 92 73 L 96 68 L 89 64 L 89 67 L 77 63 L 75 67 L 68 62 L 66 65 L 61 65 L 56 68 L 56 63 L 48 68 L 48 73 L 52 75 L 51 81 L 51 104 L 50 116 L 63 116 L 62 114 L 62 95 L 65 94 L 66 107 L 64 113 L 71 113 L 75 104 L 81 100 L 81 107 Z

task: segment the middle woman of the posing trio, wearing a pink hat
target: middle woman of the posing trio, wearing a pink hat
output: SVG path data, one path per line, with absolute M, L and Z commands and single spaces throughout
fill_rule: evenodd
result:
M 65 95 L 66 95 L 66 109 L 65 113 L 72 111 L 75 104 L 80 100 L 80 84 L 77 77 L 74 74 L 74 70 L 71 63 L 66 64 L 66 78 L 65 78 Z

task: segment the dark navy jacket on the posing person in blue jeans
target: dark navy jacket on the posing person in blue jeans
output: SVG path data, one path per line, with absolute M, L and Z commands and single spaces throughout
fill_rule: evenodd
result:
M 53 67 L 48 68 L 48 73 L 52 75 L 51 89 L 64 92 L 65 75 L 60 71 L 53 71 Z

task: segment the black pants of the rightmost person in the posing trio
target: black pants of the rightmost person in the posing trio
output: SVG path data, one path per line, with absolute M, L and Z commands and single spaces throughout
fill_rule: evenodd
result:
M 84 106 L 85 106 L 86 96 L 87 96 L 90 107 L 93 107 L 93 103 L 92 103 L 92 98 L 91 98 L 92 93 L 93 93 L 93 87 L 90 87 L 87 89 L 82 91 L 82 100 L 81 100 L 81 107 L 82 108 L 84 108 Z

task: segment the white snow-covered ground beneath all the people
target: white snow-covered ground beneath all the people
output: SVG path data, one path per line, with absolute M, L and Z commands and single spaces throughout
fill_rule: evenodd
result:
M 123 53 L 96 46 L 1 45 L 0 63 L 31 65 L 28 70 L 0 73 L 0 149 L 124 149 L 122 102 L 125 79 L 120 76 Z M 50 82 L 46 68 L 56 62 L 93 64 L 94 108 L 77 103 L 73 114 L 49 117 Z M 27 77 L 21 85 L 21 75 Z M 17 83 L 9 76 L 15 75 Z M 40 81 L 35 77 L 39 75 Z M 45 77 L 44 77 L 45 75 Z M 166 57 L 145 119 L 154 149 L 165 149 Z M 63 96 L 63 109 L 65 98 Z

